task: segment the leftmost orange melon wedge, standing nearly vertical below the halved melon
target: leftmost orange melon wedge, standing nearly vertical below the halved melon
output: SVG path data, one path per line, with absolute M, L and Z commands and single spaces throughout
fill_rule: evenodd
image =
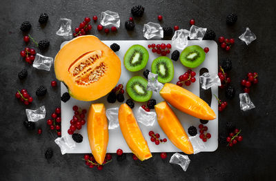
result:
M 103 164 L 108 147 L 108 120 L 104 104 L 91 104 L 87 118 L 87 133 L 95 160 Z

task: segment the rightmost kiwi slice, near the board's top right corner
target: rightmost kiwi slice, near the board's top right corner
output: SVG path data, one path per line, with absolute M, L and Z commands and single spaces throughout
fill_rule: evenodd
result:
M 196 68 L 205 59 L 205 52 L 200 46 L 188 46 L 180 55 L 181 63 L 188 68 Z

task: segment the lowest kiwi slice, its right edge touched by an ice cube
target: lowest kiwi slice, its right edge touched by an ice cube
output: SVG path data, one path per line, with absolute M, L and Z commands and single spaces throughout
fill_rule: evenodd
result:
M 152 91 L 147 90 L 148 81 L 141 76 L 135 76 L 128 80 L 126 92 L 131 99 L 137 102 L 146 102 L 152 96 Z

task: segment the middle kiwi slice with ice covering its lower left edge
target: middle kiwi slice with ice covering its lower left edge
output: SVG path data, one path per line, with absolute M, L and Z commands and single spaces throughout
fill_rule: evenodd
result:
M 175 73 L 172 60 L 168 57 L 158 57 L 152 61 L 151 72 L 158 75 L 158 81 L 161 83 L 170 82 Z

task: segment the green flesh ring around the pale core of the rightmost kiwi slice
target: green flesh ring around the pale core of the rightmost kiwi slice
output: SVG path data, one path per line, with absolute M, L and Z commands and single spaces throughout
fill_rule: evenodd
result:
M 184 59 L 184 57 L 186 57 L 186 55 L 193 50 L 197 50 L 201 57 L 193 62 L 186 61 L 186 59 Z M 202 64 L 202 62 L 205 60 L 205 52 L 204 52 L 204 49 L 201 48 L 200 46 L 196 46 L 196 45 L 188 46 L 181 52 L 179 59 L 181 61 L 181 64 L 183 64 L 184 66 L 186 66 L 188 68 L 196 68 L 197 66 L 200 66 L 200 64 Z

